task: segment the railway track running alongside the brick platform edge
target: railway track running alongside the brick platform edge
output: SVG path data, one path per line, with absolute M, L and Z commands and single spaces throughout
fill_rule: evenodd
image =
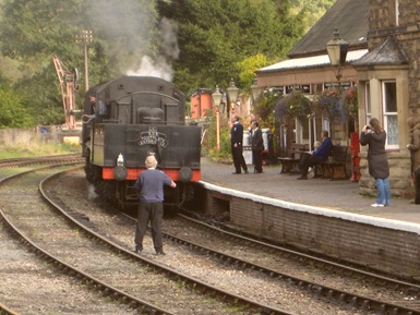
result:
M 280 280 L 291 283 L 292 287 L 299 288 L 299 290 L 303 292 L 309 292 L 313 299 L 324 299 L 326 303 L 334 301 L 334 303 L 340 304 L 343 308 L 351 310 L 350 314 L 358 314 L 355 312 L 361 312 L 361 314 L 419 314 L 419 287 L 415 283 L 388 279 L 381 275 L 365 272 L 357 268 L 349 268 L 305 254 L 272 246 L 247 238 L 240 238 L 236 234 L 221 231 L 218 228 L 215 229 L 209 226 L 203 226 L 202 222 L 199 221 L 193 222 L 192 226 L 196 226 L 196 228 L 190 230 L 189 227 L 191 223 L 185 222 L 185 219 L 187 218 L 173 221 L 167 220 L 165 231 L 172 231 L 170 234 L 167 233 L 167 238 L 172 240 L 173 243 L 187 247 L 188 251 L 196 253 L 195 255 L 204 256 L 205 258 L 215 258 L 223 265 L 228 265 L 235 270 L 256 271 L 276 281 Z M 173 227 L 171 222 L 175 222 Z M 204 245 L 197 244 L 197 242 L 203 242 Z M 127 240 L 122 241 L 122 243 L 127 244 Z M 215 251 L 212 249 L 212 245 L 214 247 L 215 244 L 227 245 L 221 250 Z M 233 253 L 228 254 L 229 252 Z M 250 256 L 252 259 L 250 259 Z M 272 259 L 272 265 L 264 262 L 269 261 L 264 258 L 267 256 L 275 257 L 274 261 Z M 261 259 L 261 257 L 263 258 Z M 192 259 L 192 257 L 185 258 L 185 261 Z M 167 259 L 167 264 L 170 265 L 171 259 Z M 273 267 L 273 264 L 277 265 L 277 268 Z M 281 269 L 288 266 L 289 270 L 279 271 L 278 265 L 281 266 Z M 309 276 L 305 278 L 293 276 L 291 270 L 296 269 L 297 266 L 302 267 L 295 271 L 296 275 Z M 316 269 L 316 271 L 321 270 L 319 272 L 320 275 L 315 277 L 313 269 Z M 350 275 L 353 276 L 350 277 Z M 200 277 L 200 275 L 196 277 Z M 310 281 L 311 277 L 315 278 L 316 281 Z M 346 282 L 351 278 L 353 278 L 353 280 L 351 280 L 352 282 L 350 282 L 350 284 L 339 286 L 337 289 L 331 288 L 327 283 L 322 282 L 322 278 L 329 277 L 335 277 L 341 282 Z M 365 294 L 360 294 L 360 291 Z M 376 291 L 377 293 L 375 293 Z

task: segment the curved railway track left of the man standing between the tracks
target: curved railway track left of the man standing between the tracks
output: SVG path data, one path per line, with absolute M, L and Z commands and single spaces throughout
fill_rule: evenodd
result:
M 31 211 L 27 207 L 15 207 L 16 193 L 28 196 L 27 202 L 36 199 L 36 183 L 49 171 L 50 168 L 45 168 L 27 172 L 25 177 L 3 180 L 1 190 L 5 198 L 2 207 L 9 206 L 2 211 L 2 223 L 14 238 L 58 269 L 75 275 L 73 277 L 108 298 L 129 304 L 141 314 L 227 314 L 232 307 L 240 312 L 238 314 L 289 314 L 225 292 L 167 268 L 157 259 L 135 255 L 104 235 L 106 231 L 104 234 L 94 231 L 95 226 L 83 214 L 68 211 L 65 205 L 58 206 L 61 201 L 52 202 L 53 197 L 47 197 L 48 193 L 41 187 L 40 192 L 55 204 L 55 209 L 35 202 L 31 204 Z M 65 221 L 55 215 L 57 210 L 67 217 Z M 77 228 L 69 228 L 69 222 L 77 225 Z M 152 302 L 139 298 L 144 295 Z M 176 301 L 167 301 L 166 295 L 176 296 Z M 171 311 L 173 302 L 177 306 Z

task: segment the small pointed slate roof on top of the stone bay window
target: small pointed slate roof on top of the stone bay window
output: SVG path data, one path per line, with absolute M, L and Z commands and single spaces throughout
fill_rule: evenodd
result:
M 401 46 L 394 36 L 389 36 L 386 40 L 364 54 L 359 60 L 355 61 L 353 65 L 397 65 L 408 64 L 409 59 L 404 52 Z

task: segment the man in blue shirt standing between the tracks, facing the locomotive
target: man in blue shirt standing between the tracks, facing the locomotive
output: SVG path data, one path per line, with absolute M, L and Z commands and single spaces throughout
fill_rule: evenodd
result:
M 152 239 L 156 255 L 165 255 L 161 241 L 161 221 L 164 218 L 164 185 L 176 187 L 177 184 L 163 171 L 156 170 L 155 156 L 145 160 L 146 170 L 139 174 L 134 187 L 139 191 L 140 204 L 135 229 L 135 252 L 143 251 L 143 238 L 151 221 Z

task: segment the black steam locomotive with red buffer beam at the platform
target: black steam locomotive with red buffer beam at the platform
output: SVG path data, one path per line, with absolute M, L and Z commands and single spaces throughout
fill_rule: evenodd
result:
M 82 147 L 86 179 L 121 208 L 139 202 L 134 183 L 148 155 L 177 182 L 165 206 L 179 206 L 200 181 L 201 128 L 185 124 L 185 96 L 152 76 L 121 76 L 85 95 Z

